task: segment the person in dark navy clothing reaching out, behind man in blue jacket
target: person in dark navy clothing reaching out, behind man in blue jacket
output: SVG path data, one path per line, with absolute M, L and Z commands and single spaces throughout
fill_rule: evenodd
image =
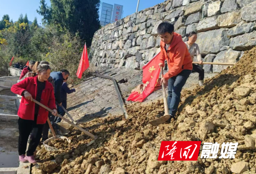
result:
M 76 92 L 76 89 L 69 89 L 66 82 L 67 82 L 67 80 L 64 80 L 62 87 L 61 87 L 61 103 L 65 109 L 67 109 L 67 94 Z M 61 116 L 65 115 L 65 111 L 61 107 L 57 107 L 57 111 Z M 56 122 L 57 120 L 54 120 L 54 121 Z

